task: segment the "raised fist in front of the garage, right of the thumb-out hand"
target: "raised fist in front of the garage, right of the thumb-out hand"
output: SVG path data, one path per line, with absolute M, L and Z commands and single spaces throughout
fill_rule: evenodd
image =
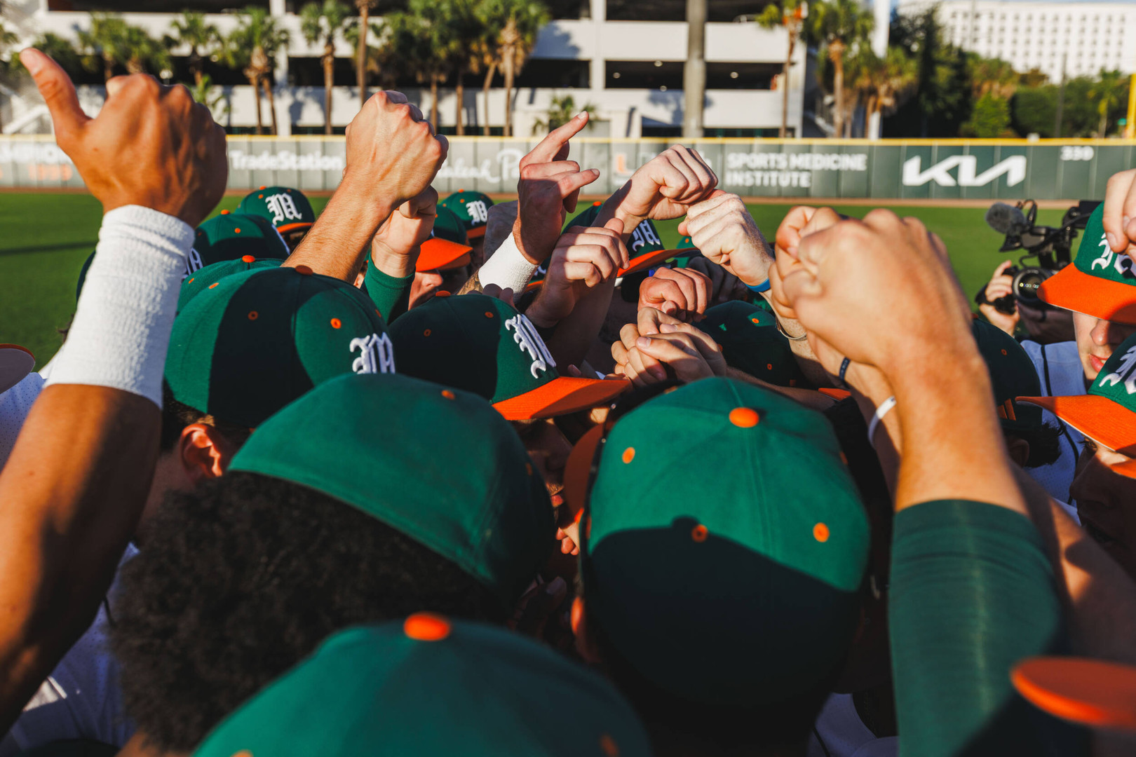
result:
M 401 205 L 429 186 L 450 143 L 401 92 L 376 92 L 348 124 L 343 183 Z

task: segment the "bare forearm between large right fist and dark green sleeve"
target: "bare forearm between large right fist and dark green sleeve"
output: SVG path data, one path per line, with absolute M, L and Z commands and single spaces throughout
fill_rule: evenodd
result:
M 895 508 L 971 499 L 1027 515 L 992 412 L 985 363 L 972 348 L 943 353 L 887 372 L 902 435 Z

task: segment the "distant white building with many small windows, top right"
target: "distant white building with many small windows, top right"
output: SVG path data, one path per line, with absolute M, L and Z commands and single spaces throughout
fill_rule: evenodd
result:
M 899 0 L 917 12 L 928 0 Z M 1038 69 L 1052 82 L 1096 76 L 1102 69 L 1136 73 L 1136 3 L 941 0 L 946 40 L 1016 70 Z

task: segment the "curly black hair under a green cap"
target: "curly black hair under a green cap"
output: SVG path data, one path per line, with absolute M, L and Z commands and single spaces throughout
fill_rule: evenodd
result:
M 470 574 L 393 528 L 245 472 L 170 493 L 120 580 L 111 649 L 126 710 L 175 752 L 337 629 L 417 611 L 506 617 Z

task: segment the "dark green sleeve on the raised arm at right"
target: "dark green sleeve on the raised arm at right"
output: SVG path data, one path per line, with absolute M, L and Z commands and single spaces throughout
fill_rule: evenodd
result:
M 1068 654 L 1033 524 L 982 502 L 900 511 L 888 597 L 900 754 L 1085 755 L 1087 733 L 1026 703 L 1024 657 Z

